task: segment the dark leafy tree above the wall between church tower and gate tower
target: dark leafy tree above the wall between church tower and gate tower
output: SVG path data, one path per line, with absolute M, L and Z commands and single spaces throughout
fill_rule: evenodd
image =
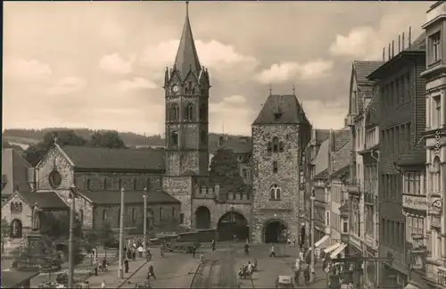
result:
M 211 161 L 209 179 L 212 184 L 224 187 L 227 192 L 244 189 L 244 179 L 240 176 L 237 157 L 231 149 L 221 148 L 215 153 Z

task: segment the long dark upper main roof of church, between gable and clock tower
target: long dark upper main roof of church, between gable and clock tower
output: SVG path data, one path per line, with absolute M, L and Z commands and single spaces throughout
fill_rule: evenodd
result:
M 76 169 L 164 169 L 163 150 L 109 149 L 85 146 L 63 146 Z

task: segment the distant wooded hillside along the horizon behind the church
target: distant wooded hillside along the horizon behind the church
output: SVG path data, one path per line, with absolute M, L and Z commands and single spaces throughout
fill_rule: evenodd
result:
M 2 134 L 3 141 L 8 142 L 11 145 L 20 145 L 23 149 L 26 149 L 29 145 L 35 145 L 41 141 L 48 131 L 53 130 L 73 130 L 78 136 L 82 136 L 89 139 L 90 136 L 96 131 L 88 128 L 43 128 L 43 129 L 4 129 Z M 99 129 L 99 132 L 106 131 L 105 129 Z M 120 137 L 124 143 L 130 147 L 145 147 L 145 146 L 162 146 L 164 145 L 164 139 L 161 136 L 143 136 L 132 132 L 120 132 Z M 219 134 L 211 133 L 209 135 L 209 144 L 213 146 L 219 141 Z M 225 135 L 229 136 L 229 135 Z

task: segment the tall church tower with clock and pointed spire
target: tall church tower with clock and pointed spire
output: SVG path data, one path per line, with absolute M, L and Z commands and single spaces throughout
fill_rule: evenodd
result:
M 186 2 L 177 57 L 165 73 L 166 175 L 208 173 L 209 74 L 196 52 Z

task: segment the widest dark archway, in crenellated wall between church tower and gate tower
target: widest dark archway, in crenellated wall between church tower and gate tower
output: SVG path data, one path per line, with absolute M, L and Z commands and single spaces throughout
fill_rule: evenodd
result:
M 228 211 L 220 217 L 217 224 L 219 241 L 245 241 L 249 237 L 249 223 L 244 215 L 237 211 Z

